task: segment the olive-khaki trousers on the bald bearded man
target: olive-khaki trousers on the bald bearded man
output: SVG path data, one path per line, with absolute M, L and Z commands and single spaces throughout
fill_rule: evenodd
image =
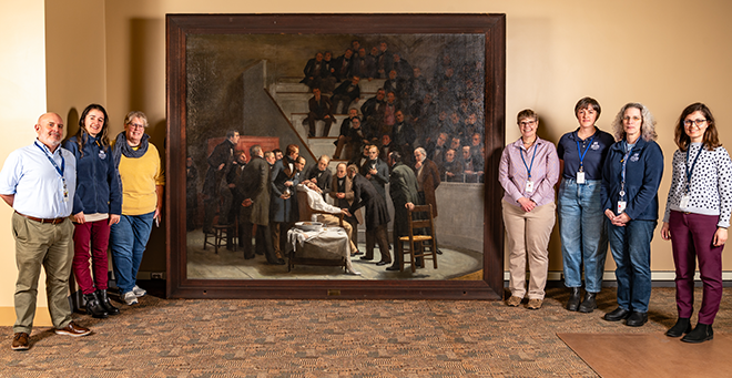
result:
M 41 266 L 45 269 L 45 294 L 53 327 L 68 326 L 71 323 L 68 297 L 73 258 L 69 246 L 73 224 L 68 218 L 59 224 L 40 223 L 13 213 L 12 231 L 18 265 L 13 333 L 30 335 L 33 328 Z

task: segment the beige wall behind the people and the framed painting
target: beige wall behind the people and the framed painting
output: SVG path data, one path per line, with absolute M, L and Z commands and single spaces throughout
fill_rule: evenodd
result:
M 662 206 L 675 150 L 672 124 L 683 106 L 695 101 L 709 104 L 722 125 L 722 141 L 732 145 L 732 133 L 723 127 L 732 120 L 729 96 L 724 95 L 732 84 L 732 23 L 725 19 L 732 2 L 373 0 L 369 4 L 370 12 L 506 13 L 507 141 L 519 136 L 510 121 L 525 108 L 539 112 L 540 134 L 557 141 L 577 126 L 572 108 L 581 96 L 594 96 L 602 104 L 598 122 L 602 129 L 626 102 L 648 105 L 659 121 L 659 143 L 667 156 Z M 4 112 L 0 116 L 4 134 L 0 159 L 4 159 L 32 139 L 30 125 L 45 109 L 40 59 L 44 13 L 39 0 L 4 2 L 1 7 L 4 59 L 0 61 L 0 106 Z M 110 113 L 111 134 L 122 130 L 128 111 L 142 110 L 150 118 L 149 132 L 157 146 L 165 134 L 165 13 L 360 10 L 333 0 L 73 0 L 63 1 L 63 6 L 49 0 L 47 8 L 47 14 L 54 16 L 47 23 L 48 43 L 52 44 L 45 61 L 49 109 L 67 118 L 74 108 L 80 112 L 89 102 L 101 102 Z M 0 229 L 9 229 L 9 208 L 0 210 Z M 157 238 L 143 264 L 148 269 L 164 269 L 162 228 L 155 233 Z M 8 232 L 0 232 L 0 244 L 6 251 L 0 257 L 4 263 L 0 265 L 0 306 L 12 306 L 16 270 Z M 667 272 L 673 269 L 670 244 L 655 237 L 652 254 L 655 276 L 669 277 Z M 552 270 L 561 268 L 556 237 L 550 260 Z M 732 260 L 728 258 L 724 268 L 732 270 Z

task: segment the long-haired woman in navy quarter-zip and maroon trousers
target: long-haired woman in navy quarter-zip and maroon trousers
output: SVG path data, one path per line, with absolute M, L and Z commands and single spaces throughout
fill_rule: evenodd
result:
M 87 302 L 87 314 L 95 318 L 120 314 L 106 296 L 110 226 L 120 222 L 122 213 L 120 175 L 106 124 L 104 108 L 91 104 L 81 113 L 77 135 L 63 144 L 77 157 L 72 268 Z

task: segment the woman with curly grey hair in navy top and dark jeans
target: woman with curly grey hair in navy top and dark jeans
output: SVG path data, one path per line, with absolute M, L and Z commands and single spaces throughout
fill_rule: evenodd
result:
M 604 319 L 628 319 L 628 326 L 640 327 L 648 321 L 651 299 L 651 239 L 659 218 L 663 152 L 654 142 L 655 120 L 642 104 L 622 106 L 612 129 L 618 143 L 602 170 L 602 208 L 618 266 L 618 308 Z

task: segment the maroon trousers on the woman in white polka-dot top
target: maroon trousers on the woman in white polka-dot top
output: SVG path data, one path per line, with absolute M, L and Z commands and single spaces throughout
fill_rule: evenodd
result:
M 699 323 L 711 325 L 722 302 L 722 249 L 715 247 L 714 233 L 719 215 L 671 212 L 669 231 L 677 268 L 677 308 L 679 317 L 689 318 L 694 311 L 694 270 L 699 258 L 699 272 L 703 283 Z

